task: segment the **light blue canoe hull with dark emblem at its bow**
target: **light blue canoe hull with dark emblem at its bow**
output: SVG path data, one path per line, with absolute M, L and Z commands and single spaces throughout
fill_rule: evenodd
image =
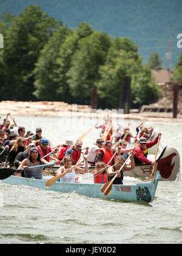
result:
M 140 183 L 136 185 L 113 185 L 109 196 L 101 192 L 101 184 L 84 184 L 84 183 L 61 183 L 55 182 L 50 187 L 45 186 L 44 180 L 28 179 L 18 176 L 10 176 L 1 182 L 12 185 L 28 185 L 43 190 L 53 190 L 62 193 L 78 193 L 80 195 L 92 196 L 93 198 L 115 199 L 127 202 L 152 202 L 157 189 L 160 174 L 157 173 L 152 182 Z

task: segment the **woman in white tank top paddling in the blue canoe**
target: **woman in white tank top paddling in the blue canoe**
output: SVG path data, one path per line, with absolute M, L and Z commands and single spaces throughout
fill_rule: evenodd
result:
M 56 171 L 56 176 L 60 175 L 61 173 L 64 173 L 64 171 L 67 170 L 66 175 L 61 177 L 62 183 L 74 183 L 77 181 L 77 177 L 75 177 L 75 171 L 78 171 L 79 173 L 87 173 L 89 168 L 87 165 L 87 158 L 85 157 L 85 168 L 80 168 L 78 166 L 75 166 L 72 170 L 69 170 L 69 168 L 72 167 L 72 157 L 71 156 L 65 156 L 63 159 L 63 166 L 59 167 L 59 169 Z

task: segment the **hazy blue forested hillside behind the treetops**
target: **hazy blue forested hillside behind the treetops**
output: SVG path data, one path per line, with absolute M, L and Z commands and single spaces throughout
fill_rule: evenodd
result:
M 0 0 L 0 14 L 18 15 L 30 4 L 40 5 L 45 12 L 71 29 L 86 21 L 94 30 L 115 36 L 127 36 L 137 46 L 146 63 L 152 52 L 158 52 L 162 65 L 169 67 L 169 26 L 172 28 L 172 67 L 178 61 L 177 35 L 182 33 L 181 0 Z

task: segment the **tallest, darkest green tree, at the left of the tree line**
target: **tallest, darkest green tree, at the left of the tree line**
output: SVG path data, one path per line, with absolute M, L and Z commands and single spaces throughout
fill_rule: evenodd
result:
M 61 22 L 30 5 L 24 9 L 7 30 L 4 50 L 5 81 L 8 98 L 16 100 L 35 99 L 33 69 L 39 52 Z

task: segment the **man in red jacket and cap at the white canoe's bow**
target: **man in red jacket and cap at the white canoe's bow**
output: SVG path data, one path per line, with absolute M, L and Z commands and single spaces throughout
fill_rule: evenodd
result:
M 158 133 L 158 136 L 161 135 L 161 133 Z M 156 164 L 156 161 L 150 161 L 147 159 L 148 150 L 147 148 L 153 147 L 158 142 L 158 136 L 149 142 L 147 142 L 147 139 L 144 137 L 141 137 L 138 145 L 134 149 L 134 161 L 135 164 Z

